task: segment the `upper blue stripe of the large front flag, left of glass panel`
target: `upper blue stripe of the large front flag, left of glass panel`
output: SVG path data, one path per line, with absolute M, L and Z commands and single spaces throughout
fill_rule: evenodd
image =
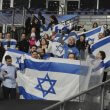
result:
M 81 66 L 75 64 L 55 63 L 55 62 L 33 62 L 29 59 L 20 64 L 21 69 L 29 68 L 39 71 L 50 71 L 59 73 L 80 74 Z

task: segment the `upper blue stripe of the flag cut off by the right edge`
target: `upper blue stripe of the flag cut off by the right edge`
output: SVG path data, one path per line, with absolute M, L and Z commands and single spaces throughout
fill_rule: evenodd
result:
M 110 43 L 110 37 L 108 37 L 108 38 L 106 38 L 106 39 L 104 39 L 104 40 L 102 40 L 102 41 L 99 41 L 99 42 L 97 42 L 96 44 L 94 44 L 94 45 L 91 47 L 91 51 L 93 52 L 93 51 L 95 51 L 96 49 L 98 49 L 98 48 L 100 48 L 100 47 L 102 47 L 102 46 L 104 46 L 105 44 L 108 44 L 108 43 Z

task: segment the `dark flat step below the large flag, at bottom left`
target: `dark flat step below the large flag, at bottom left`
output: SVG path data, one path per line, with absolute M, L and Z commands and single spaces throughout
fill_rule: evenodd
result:
M 56 103 L 56 101 L 2 100 L 0 101 L 0 110 L 42 110 L 54 103 Z M 56 110 L 59 109 L 57 108 Z

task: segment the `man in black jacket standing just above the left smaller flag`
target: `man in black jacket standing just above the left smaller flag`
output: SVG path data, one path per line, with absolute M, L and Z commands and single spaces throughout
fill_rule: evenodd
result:
M 28 51 L 29 51 L 29 42 L 26 39 L 26 34 L 25 33 L 22 34 L 21 41 L 18 42 L 17 48 L 20 51 L 28 53 Z

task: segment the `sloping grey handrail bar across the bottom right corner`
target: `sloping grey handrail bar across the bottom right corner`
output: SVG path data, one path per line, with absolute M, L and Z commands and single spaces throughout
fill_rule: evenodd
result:
M 56 108 L 56 107 L 58 107 L 59 105 L 62 105 L 63 103 L 65 103 L 65 102 L 67 102 L 67 101 L 70 101 L 70 100 L 75 99 L 75 98 L 77 98 L 77 97 L 79 97 L 79 96 L 81 96 L 81 95 L 84 95 L 84 94 L 86 94 L 86 93 L 88 93 L 88 92 L 90 92 L 90 91 L 92 91 L 92 90 L 94 90 L 94 89 L 96 89 L 96 88 L 98 88 L 98 87 L 104 86 L 104 85 L 107 84 L 107 83 L 110 83 L 110 80 L 107 80 L 107 81 L 105 81 L 105 82 L 102 82 L 102 83 L 100 83 L 99 85 L 96 85 L 96 86 L 94 86 L 94 87 L 92 87 L 92 88 L 90 88 L 90 89 L 88 89 L 88 90 L 82 91 L 82 92 L 80 92 L 79 94 L 76 94 L 76 95 L 74 95 L 74 96 L 72 96 L 72 97 L 69 97 L 69 98 L 67 98 L 67 99 L 65 99 L 65 100 L 63 100 L 63 101 L 61 101 L 61 102 L 58 102 L 58 103 L 56 103 L 56 104 L 53 104 L 52 106 L 49 106 L 49 107 L 47 107 L 47 108 L 44 108 L 43 110 L 51 110 L 51 109 L 53 109 L 53 108 Z

